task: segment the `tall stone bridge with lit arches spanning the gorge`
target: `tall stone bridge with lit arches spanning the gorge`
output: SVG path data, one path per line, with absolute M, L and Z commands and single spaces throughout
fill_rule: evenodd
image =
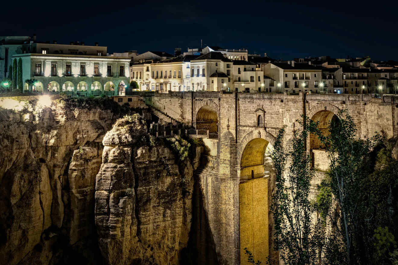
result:
M 287 149 L 302 115 L 319 121 L 320 130 L 327 133 L 328 124 L 342 109 L 353 117 L 361 139 L 382 130 L 388 137 L 398 134 L 398 97 L 392 95 L 378 99 L 347 94 L 170 92 L 144 100 L 179 122 L 218 133 L 216 139 L 204 139 L 209 147 L 207 164 L 196 176 L 193 222 L 203 254 L 198 264 L 246 263 L 245 247 L 263 263 L 268 254 L 273 255 L 272 248 L 265 246 L 272 240 L 268 220 L 275 180 L 272 163 L 266 160 L 283 126 L 287 126 Z M 316 137 L 309 138 L 307 151 L 314 154 L 316 168 L 325 170 L 322 147 Z

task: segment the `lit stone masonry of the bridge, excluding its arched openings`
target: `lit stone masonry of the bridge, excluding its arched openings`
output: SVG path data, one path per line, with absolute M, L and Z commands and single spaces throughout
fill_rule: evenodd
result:
M 398 97 L 375 99 L 369 95 L 342 94 L 171 92 L 155 94 L 153 97 L 145 97 L 144 100 L 174 119 L 193 127 L 196 126 L 197 112 L 200 108 L 208 106 L 217 110 L 219 120 L 217 143 L 208 144 L 211 150 L 205 159 L 207 162 L 197 171 L 199 183 L 195 191 L 198 196 L 195 205 L 197 216 L 193 223 L 195 229 L 201 231 L 196 238 L 199 252 L 206 253 L 199 258 L 198 264 L 240 264 L 241 251 L 244 247 L 240 244 L 239 183 L 242 176 L 249 174 L 241 167 L 241 163 L 245 163 L 241 160 L 246 145 L 253 139 L 259 141 L 258 138 L 261 138 L 273 145 L 278 130 L 286 126 L 283 144 L 291 150 L 293 130 L 300 128 L 297 119 L 302 120 L 302 115 L 313 117 L 316 113 L 325 110 L 334 115 L 341 109 L 347 109 L 353 117 L 357 126 L 357 136 L 362 139 L 372 137 L 375 131 L 381 130 L 384 130 L 388 137 L 398 136 L 396 107 Z M 265 111 L 264 124 L 261 127 L 257 126 L 258 108 Z M 309 138 L 308 154 L 310 154 Z M 251 166 L 258 167 L 258 172 L 263 170 L 261 164 L 256 163 Z M 324 164 L 320 166 L 320 169 L 325 168 Z M 312 182 L 314 192 L 322 176 L 323 174 L 320 174 Z M 272 178 L 268 187 L 270 187 L 267 190 L 268 198 L 271 198 L 275 188 Z M 268 219 L 270 220 L 269 226 L 266 226 L 269 232 L 268 238 L 272 238 L 271 215 Z M 269 241 L 271 242 L 270 239 Z M 277 253 L 272 250 L 272 246 L 269 246 L 268 252 L 273 260 L 278 259 L 273 257 Z M 262 261 L 265 263 L 265 260 Z

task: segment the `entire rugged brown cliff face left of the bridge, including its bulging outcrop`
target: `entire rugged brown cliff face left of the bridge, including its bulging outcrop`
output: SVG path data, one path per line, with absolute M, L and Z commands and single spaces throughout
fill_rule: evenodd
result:
M 144 124 L 111 130 L 117 118 L 99 108 L 2 110 L 2 264 L 178 263 L 190 228 L 180 169 L 167 147 L 135 146 Z

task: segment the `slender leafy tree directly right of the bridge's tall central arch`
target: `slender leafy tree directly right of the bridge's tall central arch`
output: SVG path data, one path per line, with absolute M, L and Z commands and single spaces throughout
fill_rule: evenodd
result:
M 276 173 L 273 217 L 275 222 L 275 248 L 285 264 L 318 264 L 321 246 L 319 223 L 313 220 L 313 209 L 308 199 L 310 181 L 314 176 L 311 157 L 306 155 L 309 129 L 316 126 L 304 117 L 302 129 L 294 130 L 293 150 L 285 153 L 282 147 L 285 129 L 278 132 L 274 145 L 273 162 Z M 285 172 L 288 164 L 289 170 Z

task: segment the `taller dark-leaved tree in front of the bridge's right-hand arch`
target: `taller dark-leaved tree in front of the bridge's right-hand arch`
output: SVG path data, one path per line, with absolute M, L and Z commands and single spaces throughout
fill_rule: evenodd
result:
M 345 248 L 329 246 L 329 250 L 340 253 L 327 254 L 326 257 L 334 259 L 334 255 L 343 255 L 345 263 L 357 264 L 357 259 L 354 259 L 356 251 L 352 251 L 353 242 L 356 239 L 355 243 L 359 243 L 361 237 L 359 224 L 363 216 L 360 208 L 363 193 L 366 192 L 362 187 L 364 178 L 370 174 L 367 158 L 375 139 L 357 139 L 353 118 L 346 110 L 340 111 L 338 118 L 337 121 L 332 121 L 330 133 L 326 136 L 316 126 L 310 126 L 309 130 L 318 136 L 330 159 L 330 189 L 339 211 L 338 215 L 332 216 L 332 223 L 339 228 L 337 231 L 345 242 Z M 336 238 L 328 238 L 330 244 L 335 241 Z

